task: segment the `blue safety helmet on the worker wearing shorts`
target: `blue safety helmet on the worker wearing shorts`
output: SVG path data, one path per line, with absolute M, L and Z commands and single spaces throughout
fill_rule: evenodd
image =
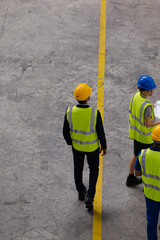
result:
M 156 84 L 149 75 L 142 75 L 137 82 L 137 86 L 144 90 L 153 90 L 156 88 Z

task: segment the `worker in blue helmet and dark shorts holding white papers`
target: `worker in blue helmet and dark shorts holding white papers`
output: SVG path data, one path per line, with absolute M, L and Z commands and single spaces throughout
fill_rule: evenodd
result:
M 155 122 L 153 106 L 148 97 L 153 95 L 156 88 L 153 78 L 143 75 L 137 82 L 138 92 L 131 98 L 129 105 L 129 138 L 134 140 L 134 154 L 130 161 L 129 175 L 126 180 L 128 187 L 142 183 L 141 178 L 134 175 L 136 157 L 142 149 L 153 143 L 151 132 L 160 122 Z

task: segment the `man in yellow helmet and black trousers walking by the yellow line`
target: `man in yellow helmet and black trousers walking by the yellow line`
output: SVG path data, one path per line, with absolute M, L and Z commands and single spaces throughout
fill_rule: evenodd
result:
M 74 160 L 74 179 L 79 200 L 85 200 L 86 208 L 93 209 L 94 195 L 99 171 L 99 153 L 107 153 L 106 138 L 101 114 L 88 105 L 92 89 L 85 83 L 79 84 L 74 91 L 78 104 L 68 107 L 63 125 L 63 136 L 72 145 Z M 99 144 L 101 148 L 99 148 Z M 89 188 L 83 183 L 84 158 L 89 165 Z M 87 194 L 87 196 L 86 196 Z

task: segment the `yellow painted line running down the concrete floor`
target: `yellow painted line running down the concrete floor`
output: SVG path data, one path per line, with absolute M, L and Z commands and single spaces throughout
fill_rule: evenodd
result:
M 104 115 L 104 78 L 105 78 L 105 40 L 106 40 L 106 1 L 101 0 L 100 32 L 99 32 L 99 60 L 98 60 L 98 92 L 97 109 L 100 111 L 102 120 Z M 103 157 L 100 156 L 99 176 L 96 185 L 96 195 L 93 209 L 93 232 L 92 240 L 101 240 L 102 231 L 102 176 Z

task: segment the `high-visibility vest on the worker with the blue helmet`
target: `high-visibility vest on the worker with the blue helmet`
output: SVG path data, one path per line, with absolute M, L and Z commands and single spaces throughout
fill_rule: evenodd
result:
M 144 144 L 153 143 L 151 139 L 153 127 L 145 126 L 144 113 L 148 106 L 152 108 L 151 121 L 154 122 L 155 117 L 152 104 L 147 98 L 143 98 L 140 92 L 137 92 L 131 98 L 129 105 L 129 138 Z

